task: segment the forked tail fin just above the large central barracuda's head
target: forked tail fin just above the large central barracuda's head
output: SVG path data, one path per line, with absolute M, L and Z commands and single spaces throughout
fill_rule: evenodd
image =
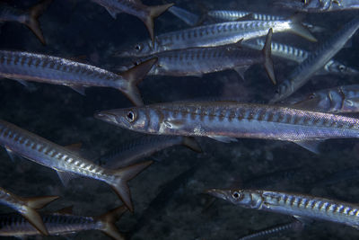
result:
M 141 64 L 137 65 L 136 67 L 132 67 L 127 72 L 119 74 L 124 79 L 121 79 L 127 81 L 127 86 L 124 88 L 119 88 L 119 90 L 127 95 L 129 100 L 133 102 L 136 106 L 142 106 L 144 105 L 144 102 L 142 102 L 141 94 L 138 91 L 138 88 L 136 84 L 142 81 L 144 79 L 144 76 L 147 75 L 147 73 L 151 70 L 153 65 L 157 62 L 157 58 L 151 58 L 149 60 L 146 60 L 142 62 Z M 123 86 L 123 84 L 121 84 Z

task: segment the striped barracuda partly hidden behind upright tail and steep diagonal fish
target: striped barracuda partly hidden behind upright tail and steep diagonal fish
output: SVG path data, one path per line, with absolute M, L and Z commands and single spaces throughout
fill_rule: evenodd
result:
M 262 39 L 254 39 L 254 40 L 244 40 L 241 42 L 241 45 L 250 49 L 262 49 L 265 45 L 265 40 Z M 293 47 L 291 45 L 274 42 L 271 43 L 271 55 L 284 58 L 288 60 L 292 60 L 297 63 L 302 63 L 311 52 Z M 347 67 L 346 65 L 338 62 L 335 59 L 330 59 L 328 63 L 318 72 L 316 75 L 327 75 L 334 74 L 339 76 L 358 76 L 359 70 L 356 70 L 352 67 Z

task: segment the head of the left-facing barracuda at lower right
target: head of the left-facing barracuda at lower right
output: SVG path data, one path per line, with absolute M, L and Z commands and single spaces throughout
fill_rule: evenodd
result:
M 253 195 L 255 194 L 254 191 L 210 189 L 206 193 L 218 199 L 232 202 L 234 205 L 241 205 L 244 208 L 258 208 L 257 198 L 254 198 Z

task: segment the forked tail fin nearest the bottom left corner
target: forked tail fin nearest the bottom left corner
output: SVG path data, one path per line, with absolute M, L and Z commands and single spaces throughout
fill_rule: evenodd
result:
M 47 196 L 47 197 L 36 197 L 30 199 L 22 199 L 26 202 L 26 206 L 21 210 L 23 218 L 26 218 L 33 227 L 39 230 L 43 235 L 48 235 L 48 230 L 46 229 L 42 218 L 39 216 L 39 213 L 35 209 L 42 209 L 48 203 L 53 200 L 57 200 L 58 196 Z

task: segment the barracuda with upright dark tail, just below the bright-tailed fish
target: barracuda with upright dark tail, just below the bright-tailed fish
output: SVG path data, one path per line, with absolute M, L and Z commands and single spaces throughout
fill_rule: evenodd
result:
M 236 44 L 219 47 L 178 49 L 157 53 L 156 64 L 148 73 L 154 76 L 202 76 L 227 69 L 236 70 L 242 77 L 254 64 L 263 64 L 267 75 L 276 84 L 273 61 L 270 58 L 271 29 L 267 34 L 267 45 L 261 51 L 241 47 Z M 151 58 L 151 57 L 150 57 Z M 145 60 L 147 58 L 144 58 Z M 140 60 L 139 62 L 141 62 Z

